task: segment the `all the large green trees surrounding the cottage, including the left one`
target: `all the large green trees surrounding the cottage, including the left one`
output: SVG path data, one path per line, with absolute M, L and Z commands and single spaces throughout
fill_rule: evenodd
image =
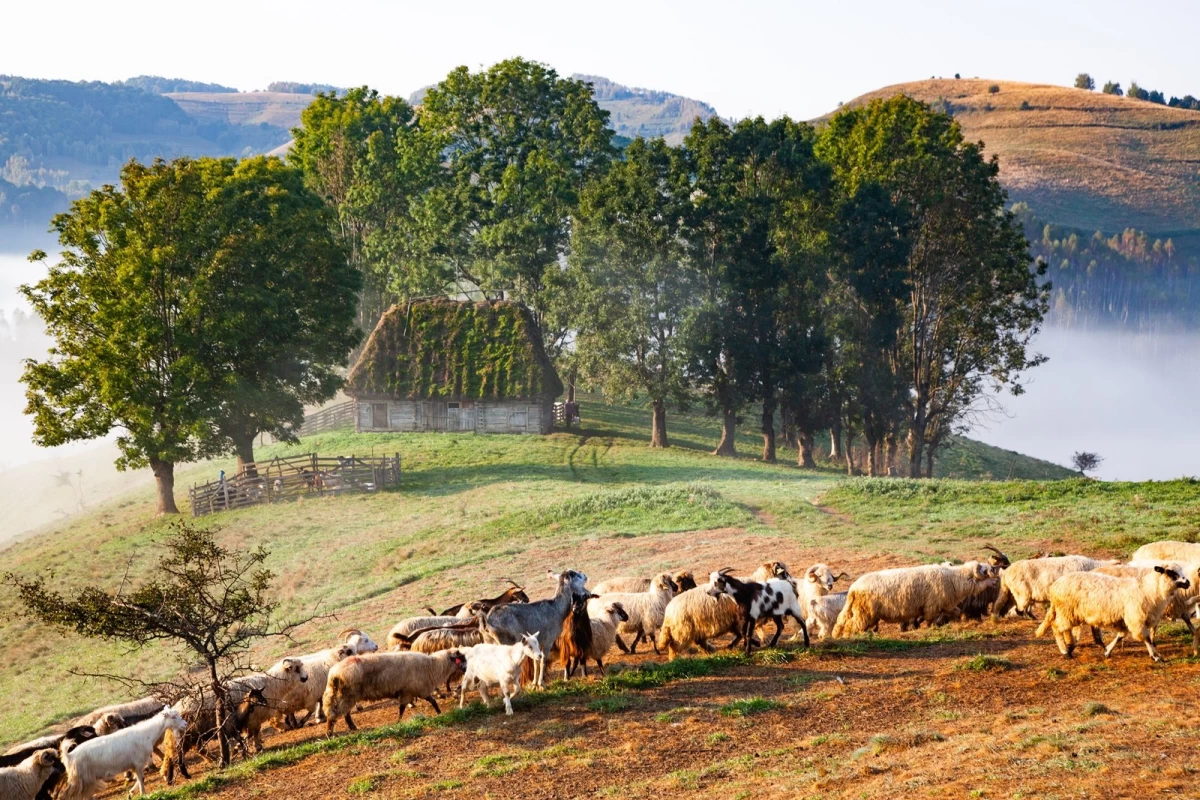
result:
M 523 302 L 560 368 L 648 398 L 653 446 L 701 404 L 731 456 L 754 409 L 763 459 L 782 435 L 811 465 L 829 429 L 869 475 L 931 474 L 1040 362 L 1045 266 L 996 161 L 906 97 L 618 149 L 589 84 L 512 59 L 418 108 L 318 95 L 294 134 L 287 164 L 131 162 L 54 218 L 62 259 L 23 288 L 55 342 L 23 375 L 38 444 L 119 431 L 175 511 L 175 464 L 252 463 L 388 307 L 462 291 Z

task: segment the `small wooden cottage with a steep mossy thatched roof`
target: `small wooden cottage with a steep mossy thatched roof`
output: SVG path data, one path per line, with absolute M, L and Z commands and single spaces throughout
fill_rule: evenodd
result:
M 508 301 L 392 306 L 346 381 L 360 432 L 550 433 L 562 392 L 529 312 Z

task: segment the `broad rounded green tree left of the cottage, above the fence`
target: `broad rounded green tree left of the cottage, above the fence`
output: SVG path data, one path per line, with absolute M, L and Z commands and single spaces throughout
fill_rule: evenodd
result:
M 131 162 L 53 228 L 61 260 L 22 287 L 54 339 L 22 377 L 35 441 L 118 431 L 118 468 L 151 468 L 160 513 L 178 511 L 175 464 L 286 435 L 336 389 L 358 279 L 294 169 Z

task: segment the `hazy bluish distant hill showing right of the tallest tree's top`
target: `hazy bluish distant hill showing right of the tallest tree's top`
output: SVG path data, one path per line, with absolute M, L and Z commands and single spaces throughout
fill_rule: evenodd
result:
M 588 80 L 595 90 L 600 108 L 610 114 L 610 122 L 618 136 L 665 138 L 671 144 L 683 142 L 696 118 L 716 116 L 716 109 L 690 97 L 666 91 L 623 86 L 600 76 L 572 76 Z

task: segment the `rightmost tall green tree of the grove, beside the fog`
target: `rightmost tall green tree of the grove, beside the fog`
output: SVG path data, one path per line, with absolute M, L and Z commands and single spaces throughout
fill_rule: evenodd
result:
M 822 154 L 851 193 L 877 182 L 906 218 L 906 293 L 892 371 L 904 386 L 908 474 L 920 476 L 931 426 L 988 389 L 1021 391 L 1042 363 L 1028 344 L 1048 308 L 1045 265 L 1032 265 L 1000 167 L 964 142 L 953 118 L 907 97 L 836 114 Z M 1031 269 L 1032 267 L 1032 269 Z

